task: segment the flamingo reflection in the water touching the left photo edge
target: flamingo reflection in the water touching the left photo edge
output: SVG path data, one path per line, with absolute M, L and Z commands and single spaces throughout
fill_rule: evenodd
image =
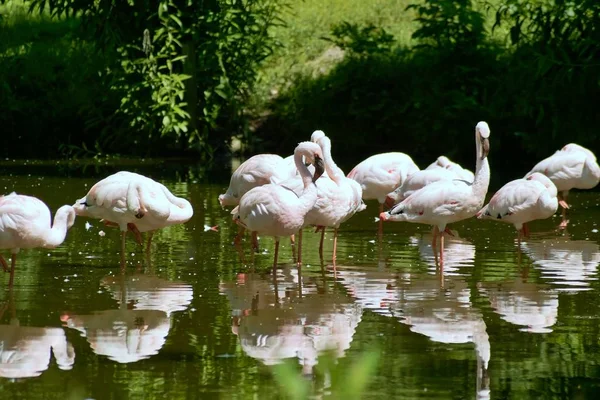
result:
M 8 313 L 7 313 L 8 311 Z M 3 378 L 33 378 L 50 365 L 54 354 L 61 370 L 70 370 L 75 362 L 75 350 L 62 328 L 21 326 L 16 318 L 13 291 L 8 302 L 0 307 L 0 323 L 9 314 L 10 322 L 0 324 L 0 376 Z

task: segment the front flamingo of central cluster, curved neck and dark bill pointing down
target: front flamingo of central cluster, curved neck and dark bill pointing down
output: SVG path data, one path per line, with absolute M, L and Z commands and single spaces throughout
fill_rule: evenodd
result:
M 314 160 L 314 176 L 302 162 L 302 156 Z M 279 237 L 290 236 L 302 228 L 306 214 L 317 201 L 314 182 L 323 174 L 323 153 L 315 143 L 298 144 L 294 150 L 294 161 L 304 184 L 300 195 L 285 186 L 270 183 L 246 192 L 231 212 L 234 221 L 245 229 L 274 237 L 273 271 L 277 269 Z

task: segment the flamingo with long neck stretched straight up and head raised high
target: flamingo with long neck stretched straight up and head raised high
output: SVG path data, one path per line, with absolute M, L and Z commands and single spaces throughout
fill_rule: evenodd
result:
M 473 183 L 463 180 L 433 182 L 414 192 L 389 212 L 381 213 L 383 221 L 407 221 L 434 225 L 432 247 L 440 233 L 440 266 L 444 264 L 444 232 L 446 225 L 474 216 L 483 206 L 490 183 L 487 155 L 490 128 L 481 121 L 475 127 L 476 168 Z

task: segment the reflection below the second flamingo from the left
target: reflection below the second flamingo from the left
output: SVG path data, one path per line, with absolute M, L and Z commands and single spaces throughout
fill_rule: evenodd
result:
M 63 314 L 64 325 L 87 338 L 92 350 L 119 363 L 158 354 L 171 328 L 171 313 L 187 309 L 192 286 L 157 276 L 107 276 L 100 284 L 118 301 L 116 310 Z

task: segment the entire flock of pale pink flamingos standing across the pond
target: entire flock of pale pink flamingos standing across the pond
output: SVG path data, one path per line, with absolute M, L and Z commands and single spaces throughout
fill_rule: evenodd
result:
M 301 264 L 302 229 L 321 231 L 319 253 L 323 258 L 326 228 L 333 228 L 335 267 L 338 230 L 355 213 L 366 208 L 363 200 L 379 203 L 379 236 L 384 221 L 405 221 L 433 226 L 432 248 L 444 262 L 444 236 L 452 234 L 448 224 L 471 217 L 511 223 L 518 241 L 529 235 L 528 223 L 554 215 L 560 205 L 566 227 L 567 196 L 571 189 L 591 189 L 600 182 L 596 156 L 570 143 L 540 161 L 524 178 L 500 188 L 485 204 L 490 181 L 490 128 L 484 121 L 475 127 L 475 173 L 445 156 L 420 170 L 404 153 L 389 152 L 368 157 L 348 175 L 332 158 L 332 142 L 322 131 L 301 142 L 292 156 L 274 154 L 251 157 L 233 173 L 227 191 L 219 196 L 223 207 L 235 207 L 231 214 L 241 235 L 249 230 L 256 236 L 275 240 L 273 269 L 277 269 L 282 236 L 298 234 L 298 264 Z M 384 205 L 389 210 L 384 212 Z M 75 217 L 100 219 L 121 232 L 121 266 L 125 266 L 125 239 L 132 232 L 142 244 L 147 232 L 146 251 L 158 230 L 190 220 L 190 201 L 171 193 L 163 184 L 143 175 L 121 171 L 97 182 L 73 206 L 58 209 L 52 221 L 50 209 L 41 200 L 22 194 L 0 196 L 0 250 L 11 252 L 10 267 L 0 255 L 0 265 L 14 281 L 20 249 L 55 248 L 63 243 Z M 439 252 L 437 239 L 439 237 Z M 293 242 L 292 242 L 293 243 Z

